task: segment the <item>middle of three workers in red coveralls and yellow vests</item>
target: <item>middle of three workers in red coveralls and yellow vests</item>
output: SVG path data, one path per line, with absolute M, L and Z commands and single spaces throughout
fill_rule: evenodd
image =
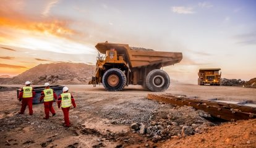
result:
M 43 119 L 47 120 L 49 119 L 49 112 L 53 113 L 53 116 L 56 115 L 53 102 L 57 100 L 57 95 L 53 89 L 49 88 L 49 83 L 45 83 L 45 89 L 41 92 L 40 102 L 42 100 L 45 105 L 45 117 Z

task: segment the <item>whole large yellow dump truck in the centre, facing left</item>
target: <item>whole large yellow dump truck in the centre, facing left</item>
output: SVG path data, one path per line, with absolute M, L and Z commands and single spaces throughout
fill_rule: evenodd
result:
M 98 43 L 96 73 L 89 84 L 102 83 L 108 91 L 122 91 L 129 84 L 142 85 L 150 91 L 165 91 L 169 76 L 161 67 L 182 59 L 181 52 L 160 52 L 129 47 L 128 44 Z M 105 55 L 101 55 L 105 54 Z

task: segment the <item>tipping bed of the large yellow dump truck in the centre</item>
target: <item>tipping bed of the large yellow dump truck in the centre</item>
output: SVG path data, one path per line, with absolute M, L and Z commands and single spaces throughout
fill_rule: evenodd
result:
M 157 64 L 164 67 L 177 64 L 182 60 L 181 52 L 136 50 L 131 49 L 128 44 L 98 43 L 95 47 L 101 54 L 105 54 L 109 49 L 115 49 L 117 54 L 124 56 L 124 59 L 131 68 Z

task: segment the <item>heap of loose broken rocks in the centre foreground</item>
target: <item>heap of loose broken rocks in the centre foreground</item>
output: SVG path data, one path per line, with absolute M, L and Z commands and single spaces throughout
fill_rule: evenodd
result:
M 192 107 L 179 107 L 169 110 L 168 114 L 156 113 L 155 119 L 150 123 L 132 123 L 133 133 L 140 133 L 152 141 L 169 138 L 182 138 L 195 133 L 202 133 L 208 126 L 215 124 L 202 117 L 209 115 L 202 110 L 195 111 Z

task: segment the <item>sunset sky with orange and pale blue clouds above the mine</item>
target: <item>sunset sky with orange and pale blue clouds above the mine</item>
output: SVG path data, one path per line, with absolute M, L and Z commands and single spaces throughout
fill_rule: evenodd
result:
M 0 75 L 38 64 L 95 64 L 98 42 L 182 52 L 164 67 L 197 83 L 199 68 L 256 77 L 256 1 L 1 0 Z

